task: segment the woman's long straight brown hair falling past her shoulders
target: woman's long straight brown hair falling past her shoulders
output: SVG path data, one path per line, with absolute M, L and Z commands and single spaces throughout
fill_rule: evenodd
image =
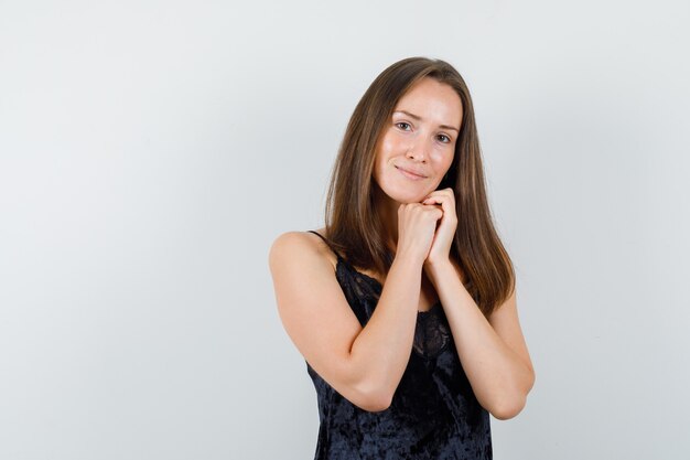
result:
M 333 165 L 325 236 L 353 266 L 388 274 L 393 255 L 375 202 L 376 146 L 398 100 L 424 77 L 448 84 L 462 101 L 453 162 L 439 189 L 452 188 L 455 195 L 457 228 L 450 256 L 466 274 L 465 287 L 488 318 L 515 289 L 515 270 L 493 224 L 470 90 L 451 64 L 408 57 L 381 72 L 365 92 Z

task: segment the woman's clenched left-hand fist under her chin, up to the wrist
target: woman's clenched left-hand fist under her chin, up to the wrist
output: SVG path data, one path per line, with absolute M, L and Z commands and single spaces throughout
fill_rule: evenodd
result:
M 402 203 L 398 207 L 398 248 L 396 257 L 411 257 L 423 264 L 429 255 L 436 223 L 443 217 L 439 206 Z

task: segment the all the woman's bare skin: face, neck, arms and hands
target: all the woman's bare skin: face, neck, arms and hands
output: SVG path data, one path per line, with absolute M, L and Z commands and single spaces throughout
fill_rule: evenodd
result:
M 384 290 L 371 318 L 366 328 L 355 318 L 335 279 L 330 248 L 315 235 L 289 232 L 270 252 L 281 319 L 326 382 L 359 407 L 384 410 L 410 357 L 417 310 L 439 299 L 479 404 L 498 419 L 515 417 L 535 381 L 515 291 L 488 320 L 484 317 L 450 258 L 459 218 L 453 191 L 436 190 L 452 164 L 460 97 L 450 86 L 424 78 L 395 110 L 377 145 L 374 179 L 396 256 L 387 278 L 378 278 Z M 424 178 L 411 180 L 396 167 Z

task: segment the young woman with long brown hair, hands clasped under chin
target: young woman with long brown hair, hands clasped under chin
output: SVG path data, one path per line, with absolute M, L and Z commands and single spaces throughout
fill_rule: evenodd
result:
M 490 459 L 489 417 L 535 372 L 492 222 L 470 92 L 450 64 L 386 68 L 355 108 L 325 227 L 269 253 L 319 398 L 315 459 Z

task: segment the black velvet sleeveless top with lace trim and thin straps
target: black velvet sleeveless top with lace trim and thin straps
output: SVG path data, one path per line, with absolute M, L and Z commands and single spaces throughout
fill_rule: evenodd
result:
M 364 328 L 381 284 L 337 256 L 336 278 Z M 315 460 L 492 459 L 488 411 L 463 371 L 443 307 L 419 311 L 410 361 L 390 407 L 364 410 L 325 382 L 305 361 L 319 399 Z

